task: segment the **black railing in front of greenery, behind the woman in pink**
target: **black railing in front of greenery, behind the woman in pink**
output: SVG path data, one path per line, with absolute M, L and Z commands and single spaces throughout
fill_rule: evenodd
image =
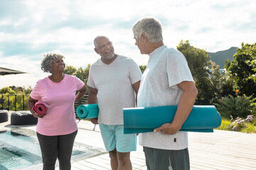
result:
M 8 111 L 28 111 L 29 94 L 1 94 L 3 102 L 0 103 L 0 108 Z M 87 103 L 88 95 L 82 96 L 78 102 L 75 103 L 75 111 L 81 104 Z

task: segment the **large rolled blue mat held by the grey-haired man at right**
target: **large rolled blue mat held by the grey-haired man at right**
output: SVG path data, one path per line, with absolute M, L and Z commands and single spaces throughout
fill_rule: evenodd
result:
M 124 134 L 153 132 L 164 123 L 174 120 L 177 106 L 124 108 Z M 181 131 L 213 132 L 221 124 L 221 116 L 215 106 L 193 106 Z

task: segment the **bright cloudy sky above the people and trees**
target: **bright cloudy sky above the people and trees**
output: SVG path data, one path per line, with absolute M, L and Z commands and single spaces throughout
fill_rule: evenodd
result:
M 105 35 L 114 51 L 146 65 L 134 45 L 132 26 L 157 18 L 164 44 L 189 40 L 208 52 L 241 47 L 256 40 L 255 0 L 0 0 L 0 67 L 27 74 L 0 77 L 5 86 L 35 86 L 49 73 L 41 70 L 46 52 L 60 52 L 67 65 L 87 67 L 100 58 L 93 40 Z

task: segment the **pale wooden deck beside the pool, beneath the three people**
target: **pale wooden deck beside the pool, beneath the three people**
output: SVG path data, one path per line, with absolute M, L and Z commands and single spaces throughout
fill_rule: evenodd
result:
M 8 123 L 0 123 L 0 128 L 14 128 Z M 36 126 L 25 126 L 36 130 Z M 98 151 L 90 157 L 72 160 L 72 170 L 105 170 L 110 168 L 110 158 L 105 151 L 98 125 L 87 121 L 78 123 L 78 135 L 75 142 L 86 145 Z M 256 134 L 215 130 L 213 133 L 188 133 L 188 151 L 191 170 L 255 170 L 256 169 Z M 146 170 L 144 152 L 137 146 L 136 152 L 131 152 L 134 170 Z M 58 167 L 58 163 L 56 163 Z M 28 167 L 26 170 L 42 169 L 42 165 Z M 58 169 L 58 168 L 56 168 Z M 161 169 L 160 169 L 161 170 Z

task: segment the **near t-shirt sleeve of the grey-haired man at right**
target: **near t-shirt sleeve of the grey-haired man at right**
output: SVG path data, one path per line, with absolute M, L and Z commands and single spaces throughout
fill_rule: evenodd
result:
M 178 50 L 171 51 L 166 55 L 166 74 L 169 86 L 174 89 L 177 89 L 176 85 L 182 81 L 193 81 L 186 58 Z

